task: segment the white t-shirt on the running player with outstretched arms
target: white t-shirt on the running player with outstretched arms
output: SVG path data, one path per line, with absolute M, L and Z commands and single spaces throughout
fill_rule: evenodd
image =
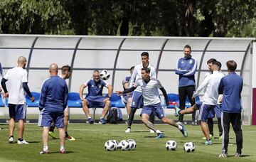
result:
M 142 88 L 144 106 L 158 104 L 161 102 L 159 98 L 159 89 L 162 87 L 162 85 L 156 78 L 151 78 L 148 83 L 142 80 L 142 78 L 139 78 L 134 87 Z

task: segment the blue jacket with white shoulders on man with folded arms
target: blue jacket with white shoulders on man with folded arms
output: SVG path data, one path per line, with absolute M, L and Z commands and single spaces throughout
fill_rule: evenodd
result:
M 178 87 L 196 85 L 195 73 L 197 68 L 196 59 L 189 55 L 188 58 L 179 58 L 176 63 L 175 73 L 178 75 Z

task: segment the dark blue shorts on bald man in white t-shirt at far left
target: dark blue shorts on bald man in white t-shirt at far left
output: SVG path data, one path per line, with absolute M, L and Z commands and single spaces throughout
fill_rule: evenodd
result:
M 9 104 L 9 117 L 15 121 L 26 119 L 26 104 Z

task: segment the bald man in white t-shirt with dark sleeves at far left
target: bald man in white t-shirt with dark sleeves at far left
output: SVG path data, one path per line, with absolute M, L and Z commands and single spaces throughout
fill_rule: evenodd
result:
M 18 65 L 6 72 L 1 80 L 1 85 L 4 89 L 5 96 L 8 98 L 9 104 L 9 144 L 14 143 L 14 128 L 15 121 L 18 121 L 18 144 L 28 144 L 23 140 L 24 120 L 26 119 L 26 99 L 25 92 L 34 102 L 34 97 L 28 88 L 28 73 L 26 67 L 26 58 L 20 56 Z M 7 90 L 6 82 L 9 82 Z

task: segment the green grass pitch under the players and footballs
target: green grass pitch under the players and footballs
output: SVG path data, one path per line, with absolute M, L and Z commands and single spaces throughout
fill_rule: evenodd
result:
M 69 124 L 68 132 L 76 138 L 75 141 L 66 141 L 67 154 L 58 153 L 59 141 L 49 140 L 49 154 L 40 155 L 42 149 L 41 127 L 36 124 L 26 124 L 24 139 L 30 142 L 28 145 L 8 144 L 8 125 L 1 124 L 0 127 L 0 161 L 256 161 L 256 127 L 242 126 L 244 145 L 242 158 L 235 158 L 235 135 L 230 134 L 229 157 L 219 159 L 221 141 L 213 140 L 213 146 L 204 146 L 201 139 L 203 133 L 200 126 L 186 125 L 188 138 L 173 126 L 158 124 L 156 127 L 164 131 L 163 139 L 155 139 L 156 134 L 150 134 L 149 130 L 142 124 L 134 124 L 132 132 L 124 133 L 125 124 Z M 217 133 L 217 126 L 215 126 Z M 15 131 L 14 139 L 17 140 Z M 105 141 L 109 139 L 134 139 L 137 143 L 135 151 L 105 151 Z M 165 143 L 175 140 L 178 144 L 176 151 L 166 151 Z M 196 151 L 184 153 L 183 144 L 193 141 Z

